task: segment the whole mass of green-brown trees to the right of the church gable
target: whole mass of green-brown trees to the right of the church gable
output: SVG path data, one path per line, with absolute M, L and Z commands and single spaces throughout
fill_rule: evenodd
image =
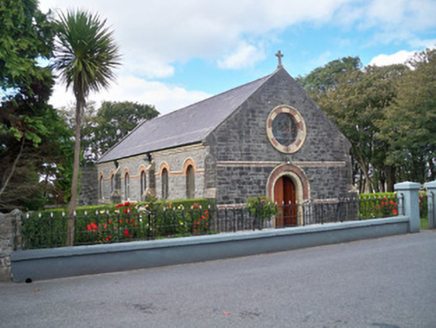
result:
M 434 58 L 434 51 L 426 50 L 412 69 L 362 69 L 358 57 L 347 57 L 298 78 L 350 140 L 361 192 L 392 191 L 395 182 L 405 179 L 434 179 Z

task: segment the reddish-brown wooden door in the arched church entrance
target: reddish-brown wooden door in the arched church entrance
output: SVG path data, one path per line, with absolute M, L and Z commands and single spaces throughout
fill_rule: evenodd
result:
M 276 228 L 296 226 L 298 224 L 298 208 L 296 204 L 296 188 L 292 179 L 283 175 L 274 184 L 274 200 L 279 206 Z

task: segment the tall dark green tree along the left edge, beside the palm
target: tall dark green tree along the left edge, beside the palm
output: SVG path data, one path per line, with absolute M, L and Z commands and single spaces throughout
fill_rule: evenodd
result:
M 53 77 L 38 58 L 52 55 L 54 24 L 36 0 L 0 4 L 0 209 L 23 208 L 38 189 L 31 158 L 49 131 L 44 124 Z M 19 176 L 18 177 L 18 173 Z M 20 180 L 22 181 L 20 184 Z

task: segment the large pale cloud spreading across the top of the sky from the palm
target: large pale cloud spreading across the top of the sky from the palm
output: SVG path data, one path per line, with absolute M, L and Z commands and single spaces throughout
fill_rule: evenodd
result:
M 350 1 L 40 0 L 40 7 L 99 13 L 114 29 L 124 54 L 123 69 L 160 78 L 174 74 L 174 63 L 192 58 L 221 58 L 220 67 L 245 68 L 238 57 L 253 51 L 253 46 L 238 47 L 247 36 L 267 41 L 275 30 L 304 21 L 328 21 Z

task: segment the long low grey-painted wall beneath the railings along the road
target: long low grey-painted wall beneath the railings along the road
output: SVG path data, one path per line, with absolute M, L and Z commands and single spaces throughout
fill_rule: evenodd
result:
M 12 279 L 35 281 L 134 270 L 379 238 L 409 232 L 405 216 L 320 226 L 12 253 Z

